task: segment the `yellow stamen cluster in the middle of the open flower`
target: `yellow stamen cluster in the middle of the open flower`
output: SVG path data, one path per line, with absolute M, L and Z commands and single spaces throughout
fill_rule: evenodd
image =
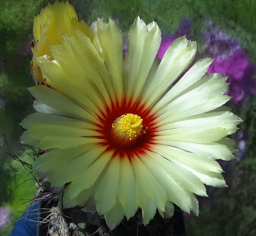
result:
M 116 131 L 119 130 L 124 132 L 125 136 L 128 136 L 129 140 L 132 140 L 141 133 L 143 119 L 141 119 L 138 115 L 129 113 L 120 116 L 116 121 L 118 121 L 118 123 L 115 122 L 112 127 L 116 128 Z

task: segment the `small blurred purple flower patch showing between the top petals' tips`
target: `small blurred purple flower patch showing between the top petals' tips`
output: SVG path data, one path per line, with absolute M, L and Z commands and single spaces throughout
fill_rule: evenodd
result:
M 182 18 L 180 19 L 179 23 L 179 29 L 174 35 L 171 35 L 169 37 L 163 37 L 160 48 L 157 52 L 157 58 L 162 59 L 163 55 L 165 54 L 168 47 L 171 45 L 171 43 L 177 38 L 181 37 L 183 35 L 187 35 L 186 37 L 189 39 L 190 36 L 188 35 L 191 28 L 191 20 Z

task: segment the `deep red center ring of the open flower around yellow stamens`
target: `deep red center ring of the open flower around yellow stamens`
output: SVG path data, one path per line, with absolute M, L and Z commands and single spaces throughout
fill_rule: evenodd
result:
M 108 149 L 114 150 L 120 157 L 125 155 L 130 157 L 137 152 L 142 153 L 143 150 L 149 149 L 148 144 L 153 142 L 152 137 L 155 136 L 154 132 L 156 130 L 155 117 L 154 115 L 148 115 L 149 110 L 144 109 L 143 106 L 138 106 L 138 104 L 140 102 L 135 102 L 132 105 L 131 101 L 125 102 L 123 100 L 117 106 L 113 104 L 111 107 L 108 106 L 106 112 L 102 112 L 102 117 L 99 117 L 102 123 L 102 126 L 99 126 L 99 133 L 101 138 L 105 140 L 102 144 L 108 145 Z M 134 133 L 134 136 L 129 136 L 127 133 L 120 135 L 122 131 L 118 130 L 119 127 L 116 127 L 116 125 L 120 126 L 119 121 L 127 118 L 124 115 L 134 115 L 134 117 L 128 117 L 128 120 L 130 118 L 135 119 L 136 115 L 137 121 L 141 118 L 143 120 L 141 131 L 137 134 Z

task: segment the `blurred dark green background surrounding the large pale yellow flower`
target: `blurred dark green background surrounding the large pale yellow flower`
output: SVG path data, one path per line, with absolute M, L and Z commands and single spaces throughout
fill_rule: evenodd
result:
M 11 219 L 0 224 L 0 236 L 9 235 L 36 191 L 35 180 L 22 164 L 9 154 L 15 153 L 32 163 L 29 154 L 17 143 L 22 128 L 18 125 L 33 112 L 32 97 L 26 87 L 35 83 L 30 73 L 33 16 L 54 0 L 0 0 L 0 207 L 10 209 Z M 166 37 L 179 28 L 182 18 L 192 22 L 190 38 L 197 40 L 204 54 L 202 29 L 211 20 L 219 30 L 235 37 L 250 63 L 256 63 L 256 1 L 254 0 L 73 0 L 79 20 L 88 24 L 97 17 L 114 19 L 124 36 L 140 15 L 145 23 L 157 21 Z M 200 215 L 185 216 L 188 236 L 256 235 L 256 98 L 231 103 L 233 111 L 247 130 L 247 149 L 240 161 L 223 164 L 228 188 L 208 187 L 209 198 L 199 198 Z M 0 213 L 1 217 L 1 213 Z

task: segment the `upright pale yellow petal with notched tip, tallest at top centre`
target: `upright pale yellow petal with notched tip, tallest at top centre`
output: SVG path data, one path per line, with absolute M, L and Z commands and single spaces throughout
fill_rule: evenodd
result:
M 157 23 L 145 25 L 144 21 L 137 17 L 128 33 L 128 76 L 127 98 L 132 101 L 140 96 L 151 66 L 157 55 L 161 42 L 161 32 Z M 148 50 L 150 48 L 151 50 Z M 137 78 L 140 78 L 138 80 Z

